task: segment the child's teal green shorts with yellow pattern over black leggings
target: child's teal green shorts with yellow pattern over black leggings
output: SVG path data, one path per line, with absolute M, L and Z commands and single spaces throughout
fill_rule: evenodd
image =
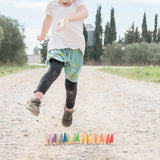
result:
M 53 49 L 48 52 L 46 64 L 50 59 L 64 62 L 65 78 L 71 82 L 78 82 L 78 78 L 83 65 L 83 54 L 80 49 Z

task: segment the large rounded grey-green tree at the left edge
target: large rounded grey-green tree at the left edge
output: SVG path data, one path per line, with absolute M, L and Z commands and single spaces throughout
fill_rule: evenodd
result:
M 27 62 L 24 43 L 24 27 L 17 20 L 0 15 L 3 40 L 0 47 L 0 62 L 22 65 Z

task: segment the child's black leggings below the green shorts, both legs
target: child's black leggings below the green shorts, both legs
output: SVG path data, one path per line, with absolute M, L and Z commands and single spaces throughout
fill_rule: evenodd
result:
M 63 62 L 51 59 L 50 67 L 48 71 L 44 74 L 44 76 L 41 78 L 35 92 L 40 91 L 43 94 L 45 94 L 49 89 L 49 87 L 52 85 L 52 83 L 60 75 L 63 66 L 64 66 Z M 68 109 L 72 109 L 74 107 L 77 95 L 77 82 L 71 82 L 68 79 L 65 79 L 65 88 L 66 88 L 66 107 Z

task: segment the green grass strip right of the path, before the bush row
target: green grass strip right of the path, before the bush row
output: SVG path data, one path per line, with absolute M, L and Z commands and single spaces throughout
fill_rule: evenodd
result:
M 160 83 L 160 67 L 143 68 L 102 68 L 102 71 L 122 77 Z

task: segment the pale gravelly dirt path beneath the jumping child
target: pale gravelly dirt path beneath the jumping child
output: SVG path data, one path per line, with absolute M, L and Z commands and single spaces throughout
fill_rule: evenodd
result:
M 64 73 L 39 117 L 24 107 L 46 69 L 0 78 L 0 160 L 159 160 L 160 85 L 84 67 L 73 125 L 64 128 Z M 114 145 L 44 146 L 45 133 L 114 133 Z

